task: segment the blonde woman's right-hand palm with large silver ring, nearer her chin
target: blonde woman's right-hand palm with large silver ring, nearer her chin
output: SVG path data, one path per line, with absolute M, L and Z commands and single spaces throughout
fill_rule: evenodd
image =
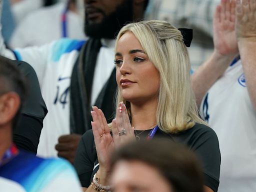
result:
M 135 140 L 134 128 L 130 125 L 128 112 L 123 102 L 120 102 L 116 108 L 116 117 L 112 120 L 112 133 L 115 147 Z

